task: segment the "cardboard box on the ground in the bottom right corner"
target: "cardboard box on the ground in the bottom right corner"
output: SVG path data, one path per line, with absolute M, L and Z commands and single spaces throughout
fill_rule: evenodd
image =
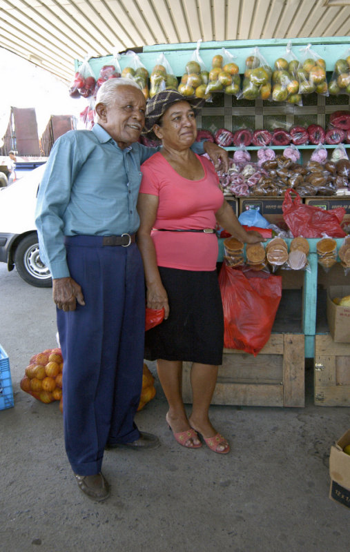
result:
M 347 444 L 350 444 L 350 429 L 340 437 L 335 445 L 331 446 L 329 498 L 350 508 L 350 455 L 343 451 Z

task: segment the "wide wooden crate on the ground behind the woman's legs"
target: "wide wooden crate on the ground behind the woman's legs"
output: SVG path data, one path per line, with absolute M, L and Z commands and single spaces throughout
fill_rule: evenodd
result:
M 191 362 L 184 362 L 182 395 L 192 402 Z M 211 404 L 304 406 L 304 335 L 273 333 L 256 356 L 224 349 Z

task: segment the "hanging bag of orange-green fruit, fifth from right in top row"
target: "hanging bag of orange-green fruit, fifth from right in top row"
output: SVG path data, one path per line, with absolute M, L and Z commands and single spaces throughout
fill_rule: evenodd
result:
M 206 86 L 206 94 L 211 92 L 224 92 L 237 96 L 240 93 L 240 69 L 233 60 L 229 50 L 222 48 L 220 54 L 212 59 L 212 68 L 209 71 L 209 80 Z

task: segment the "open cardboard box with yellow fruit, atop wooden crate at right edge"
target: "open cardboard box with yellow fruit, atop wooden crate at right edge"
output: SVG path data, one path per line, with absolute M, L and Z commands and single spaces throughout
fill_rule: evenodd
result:
M 337 343 L 350 343 L 350 307 L 336 305 L 332 299 L 346 295 L 350 295 L 350 286 L 329 286 L 327 290 L 327 322 Z

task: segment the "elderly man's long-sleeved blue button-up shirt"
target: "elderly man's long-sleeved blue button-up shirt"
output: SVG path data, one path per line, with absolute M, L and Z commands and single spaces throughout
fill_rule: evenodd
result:
M 202 142 L 193 150 L 204 152 Z M 99 124 L 59 137 L 39 186 L 36 224 L 40 255 L 53 278 L 70 275 L 64 236 L 133 234 L 142 179 L 140 166 L 157 148 L 121 149 Z

